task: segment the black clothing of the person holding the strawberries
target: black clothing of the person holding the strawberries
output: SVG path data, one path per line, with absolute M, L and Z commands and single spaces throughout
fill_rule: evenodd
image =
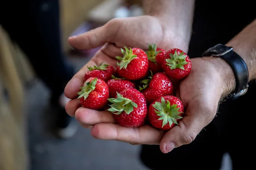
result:
M 256 18 L 253 1 L 197 0 L 188 55 L 201 57 L 218 43 L 226 44 Z M 256 36 L 256 35 L 252 35 Z M 220 104 L 217 117 L 191 144 L 163 154 L 158 145 L 143 145 L 141 160 L 152 170 L 219 170 L 223 153 L 234 170 L 253 169 L 256 83 L 234 101 Z

